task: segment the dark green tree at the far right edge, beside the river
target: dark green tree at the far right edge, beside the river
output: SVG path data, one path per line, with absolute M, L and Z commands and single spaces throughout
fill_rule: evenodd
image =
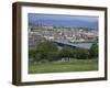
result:
M 89 50 L 89 57 L 98 57 L 98 44 L 94 43 Z

